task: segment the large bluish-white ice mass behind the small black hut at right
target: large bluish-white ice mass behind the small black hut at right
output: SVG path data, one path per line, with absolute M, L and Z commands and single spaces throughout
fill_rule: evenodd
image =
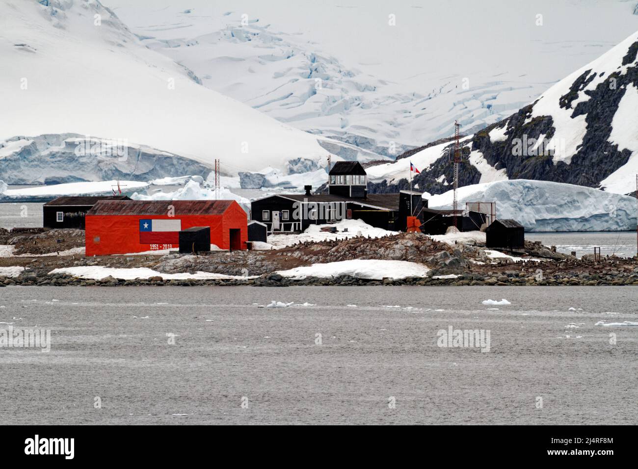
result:
M 452 208 L 453 191 L 429 198 L 434 209 Z M 498 218 L 513 218 L 526 231 L 635 230 L 636 200 L 597 189 L 560 182 L 516 179 L 459 188 L 459 207 L 466 202 L 496 202 Z

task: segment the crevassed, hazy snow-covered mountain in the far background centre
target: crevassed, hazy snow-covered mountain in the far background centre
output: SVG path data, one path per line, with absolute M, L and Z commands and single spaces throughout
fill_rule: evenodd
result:
M 204 86 L 388 156 L 508 117 L 638 27 L 626 0 L 105 1 Z

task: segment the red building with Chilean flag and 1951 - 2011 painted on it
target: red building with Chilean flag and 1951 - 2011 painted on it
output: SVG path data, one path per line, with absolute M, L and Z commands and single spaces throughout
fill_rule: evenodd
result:
M 211 244 L 246 249 L 248 217 L 234 200 L 100 200 L 85 217 L 86 255 L 179 248 L 179 232 L 211 227 Z

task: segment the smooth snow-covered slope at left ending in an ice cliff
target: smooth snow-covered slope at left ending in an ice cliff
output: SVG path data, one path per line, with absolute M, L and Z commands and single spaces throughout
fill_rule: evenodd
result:
M 200 174 L 215 158 L 228 175 L 268 166 L 316 170 L 329 152 L 378 158 L 323 137 L 320 144 L 202 86 L 193 71 L 145 47 L 97 0 L 3 0 L 0 59 L 0 171 L 9 183 L 165 177 L 183 175 L 189 165 L 199 170 L 186 174 Z M 135 151 L 140 145 L 167 158 L 154 170 L 144 170 L 148 158 L 122 163 L 120 154 L 74 159 L 63 141 L 70 134 L 130 146 L 130 158 L 144 153 Z M 36 170 L 51 151 L 64 157 Z

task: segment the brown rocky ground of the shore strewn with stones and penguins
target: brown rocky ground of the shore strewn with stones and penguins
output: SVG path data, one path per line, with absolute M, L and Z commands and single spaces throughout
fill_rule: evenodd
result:
M 61 240 L 61 241 L 60 241 Z M 82 255 L 55 255 L 84 245 L 81 230 L 0 231 L 0 244 L 16 246 L 20 257 L 0 257 L 0 267 L 21 266 L 27 270 L 17 277 L 0 276 L 6 285 L 638 285 L 635 258 L 577 259 L 553 252 L 540 243 L 526 243 L 528 258 L 540 262 L 487 257 L 483 246 L 446 244 L 423 234 L 402 233 L 382 238 L 351 238 L 342 241 L 299 243 L 272 251 L 212 251 L 193 256 L 135 255 L 85 258 Z M 54 255 L 41 256 L 43 253 Z M 38 254 L 40 256 L 29 256 Z M 367 280 L 350 276 L 292 280 L 274 272 L 302 265 L 352 259 L 385 259 L 419 262 L 431 269 L 425 278 Z M 61 267 L 101 265 L 104 267 L 148 267 L 158 272 L 150 279 L 78 279 L 48 272 Z M 258 278 L 234 280 L 165 280 L 162 273 L 216 272 Z M 447 278 L 435 278 L 445 276 Z

